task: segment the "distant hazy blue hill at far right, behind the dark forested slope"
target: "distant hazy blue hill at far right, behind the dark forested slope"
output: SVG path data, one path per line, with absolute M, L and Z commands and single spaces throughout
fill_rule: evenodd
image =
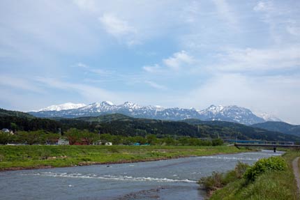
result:
M 294 134 L 300 137 L 300 125 L 292 125 L 282 121 L 267 121 L 264 123 L 255 123 L 251 126 L 256 128 L 264 128 L 271 131 L 283 132 L 285 134 Z

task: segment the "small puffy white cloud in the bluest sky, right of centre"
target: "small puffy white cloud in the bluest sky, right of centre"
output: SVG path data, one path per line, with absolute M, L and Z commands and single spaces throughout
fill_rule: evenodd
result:
M 179 70 L 181 67 L 194 63 L 194 61 L 193 56 L 190 56 L 185 51 L 174 53 L 170 58 L 163 59 L 165 66 L 173 70 Z

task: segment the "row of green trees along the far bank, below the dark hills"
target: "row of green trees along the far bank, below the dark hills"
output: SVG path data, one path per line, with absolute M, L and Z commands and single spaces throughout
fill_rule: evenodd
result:
M 89 132 L 89 130 L 79 130 L 70 128 L 63 136 L 61 134 L 47 132 L 45 130 L 36 131 L 18 131 L 15 134 L 9 132 L 0 132 L 0 144 L 57 144 L 58 139 L 67 139 L 69 144 L 105 144 L 112 142 L 114 145 L 186 145 L 186 146 L 218 146 L 223 144 L 222 139 L 202 140 L 196 137 L 164 137 L 147 134 L 142 136 L 122 136 L 114 134 L 99 134 L 98 132 Z

